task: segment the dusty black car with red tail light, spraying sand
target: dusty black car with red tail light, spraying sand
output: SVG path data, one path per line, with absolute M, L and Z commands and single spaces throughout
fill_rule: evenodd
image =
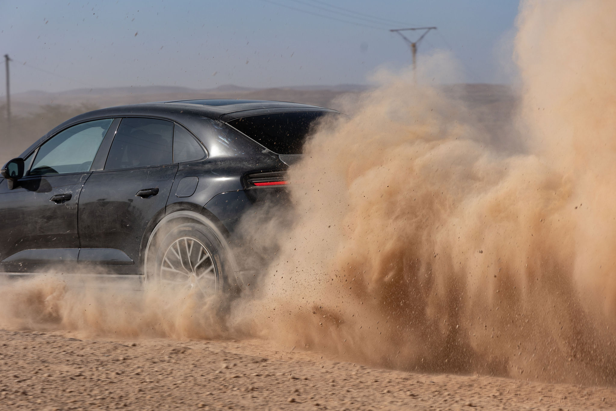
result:
M 0 272 L 144 275 L 229 290 L 259 269 L 238 222 L 285 195 L 312 105 L 182 100 L 71 118 L 2 169 Z M 282 201 L 282 200 L 281 200 Z

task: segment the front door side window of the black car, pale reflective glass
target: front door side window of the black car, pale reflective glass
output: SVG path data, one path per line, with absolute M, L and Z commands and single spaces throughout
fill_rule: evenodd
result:
M 89 171 L 112 121 L 112 118 L 88 121 L 60 131 L 39 147 L 28 175 Z

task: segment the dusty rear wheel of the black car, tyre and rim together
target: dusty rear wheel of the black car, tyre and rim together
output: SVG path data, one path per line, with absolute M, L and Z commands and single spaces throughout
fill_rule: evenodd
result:
M 172 228 L 150 255 L 154 258 L 145 270 L 148 284 L 196 289 L 204 296 L 218 295 L 225 288 L 221 243 L 201 224 L 186 222 Z

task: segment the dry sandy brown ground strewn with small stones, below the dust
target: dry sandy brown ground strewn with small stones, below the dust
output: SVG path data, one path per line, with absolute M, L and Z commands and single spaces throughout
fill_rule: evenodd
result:
M 121 341 L 0 330 L 2 410 L 615 409 L 615 388 L 428 375 L 267 341 Z

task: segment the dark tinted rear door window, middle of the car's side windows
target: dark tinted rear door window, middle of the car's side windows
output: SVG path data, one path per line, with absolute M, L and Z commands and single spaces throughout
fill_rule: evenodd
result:
M 105 169 L 171 164 L 173 123 L 155 118 L 123 118 Z

